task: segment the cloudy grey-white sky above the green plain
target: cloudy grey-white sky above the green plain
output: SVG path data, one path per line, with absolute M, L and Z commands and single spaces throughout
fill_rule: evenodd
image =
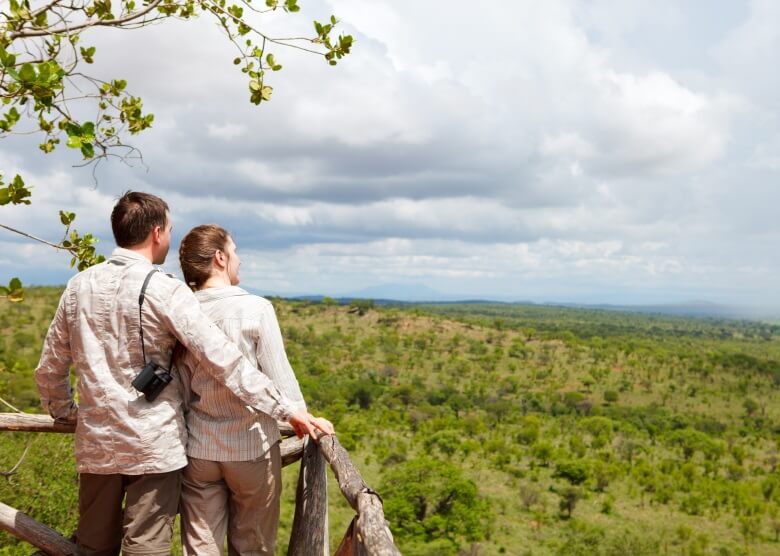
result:
M 258 22 L 354 35 L 337 68 L 277 50 L 248 102 L 213 21 L 101 31 L 95 73 L 155 114 L 143 165 L 0 141 L 35 185 L 0 222 L 56 214 L 113 248 L 124 190 L 164 197 L 175 241 L 216 222 L 242 284 L 282 295 L 780 305 L 780 2 L 301 0 Z M 0 230 L 0 281 L 63 283 L 67 258 Z M 178 271 L 176 257 L 166 267 Z M 416 292 L 416 293 L 415 293 Z

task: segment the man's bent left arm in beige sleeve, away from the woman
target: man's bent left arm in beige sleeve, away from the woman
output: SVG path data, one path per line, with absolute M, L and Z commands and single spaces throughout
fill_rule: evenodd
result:
M 67 318 L 68 290 L 60 297 L 43 343 L 41 360 L 35 369 L 35 383 L 41 395 L 41 404 L 49 415 L 62 421 L 76 421 L 78 406 L 73 399 L 68 368 L 72 362 L 70 329 Z

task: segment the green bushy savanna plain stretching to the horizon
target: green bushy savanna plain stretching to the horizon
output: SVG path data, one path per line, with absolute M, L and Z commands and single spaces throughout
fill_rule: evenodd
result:
M 32 372 L 60 291 L 0 301 L 0 396 L 23 411 L 40 411 Z M 310 410 L 334 422 L 404 554 L 780 554 L 777 324 L 273 302 Z M 0 446 L 0 500 L 70 535 L 72 437 Z M 329 497 L 335 550 L 352 510 L 332 475 Z M 33 552 L 0 534 L 0 554 Z

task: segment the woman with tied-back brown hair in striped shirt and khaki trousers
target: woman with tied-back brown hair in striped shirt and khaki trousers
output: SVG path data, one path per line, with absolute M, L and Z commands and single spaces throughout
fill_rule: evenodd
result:
M 301 411 L 306 410 L 282 343 L 273 306 L 237 287 L 241 259 L 230 235 L 197 226 L 179 247 L 179 262 L 201 308 Z M 189 354 L 179 364 L 190 383 L 187 457 L 182 478 L 184 554 L 274 554 L 279 521 L 279 429 L 249 409 Z M 326 428 L 332 426 L 316 419 Z

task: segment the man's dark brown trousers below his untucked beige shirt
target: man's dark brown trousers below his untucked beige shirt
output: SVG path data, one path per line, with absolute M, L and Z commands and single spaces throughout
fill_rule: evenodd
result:
M 147 475 L 81 473 L 79 554 L 113 556 L 121 548 L 128 556 L 167 556 L 180 491 L 180 469 Z

